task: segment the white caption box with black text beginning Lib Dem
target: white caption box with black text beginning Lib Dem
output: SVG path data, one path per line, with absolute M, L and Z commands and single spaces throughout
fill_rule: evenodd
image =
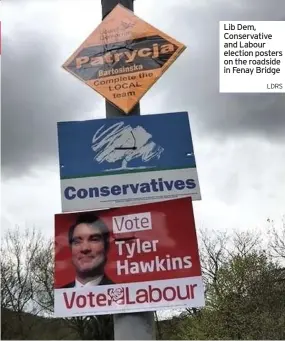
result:
M 285 21 L 220 21 L 220 92 L 285 93 Z

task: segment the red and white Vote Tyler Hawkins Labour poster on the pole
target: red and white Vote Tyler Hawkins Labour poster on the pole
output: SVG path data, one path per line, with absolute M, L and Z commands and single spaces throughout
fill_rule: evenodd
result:
M 55 215 L 55 316 L 202 307 L 189 198 Z

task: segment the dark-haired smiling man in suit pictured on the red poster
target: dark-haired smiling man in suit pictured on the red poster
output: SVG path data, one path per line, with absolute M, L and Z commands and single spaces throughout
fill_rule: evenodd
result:
M 104 273 L 110 233 L 106 224 L 91 212 L 78 216 L 68 232 L 76 278 L 62 288 L 114 284 Z

